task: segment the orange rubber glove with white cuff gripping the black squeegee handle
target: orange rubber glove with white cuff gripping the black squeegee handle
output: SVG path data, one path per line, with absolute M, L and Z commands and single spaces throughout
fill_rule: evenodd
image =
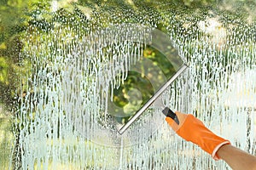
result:
M 175 114 L 179 124 L 166 116 L 166 122 L 172 129 L 183 139 L 199 145 L 202 150 L 212 155 L 212 158 L 219 160 L 216 154 L 218 149 L 224 144 L 230 144 L 230 141 L 212 133 L 203 122 L 191 114 L 183 114 L 179 111 L 176 111 Z

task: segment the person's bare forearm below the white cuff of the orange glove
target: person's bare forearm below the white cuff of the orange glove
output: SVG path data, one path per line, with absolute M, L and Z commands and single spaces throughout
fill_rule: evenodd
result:
M 256 170 L 256 156 L 249 155 L 247 152 L 239 150 L 230 144 L 222 146 L 218 150 L 217 155 L 234 170 Z

